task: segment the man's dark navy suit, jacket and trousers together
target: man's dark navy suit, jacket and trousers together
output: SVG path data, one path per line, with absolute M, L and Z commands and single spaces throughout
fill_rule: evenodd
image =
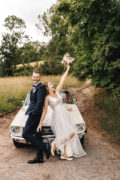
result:
M 30 105 L 26 111 L 29 115 L 24 130 L 23 137 L 26 141 L 31 142 L 37 148 L 37 156 L 43 158 L 45 143 L 42 142 L 41 134 L 36 132 L 43 111 L 44 100 L 46 96 L 45 87 L 39 83 L 34 86 L 30 92 Z

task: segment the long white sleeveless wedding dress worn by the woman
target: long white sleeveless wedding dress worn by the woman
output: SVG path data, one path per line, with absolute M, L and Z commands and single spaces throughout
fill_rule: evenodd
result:
M 56 145 L 57 151 L 61 151 L 61 154 L 64 154 L 64 145 L 66 144 L 66 154 L 69 157 L 82 157 L 86 153 L 81 146 L 75 124 L 62 103 L 61 95 L 57 92 L 56 94 L 57 98 L 48 96 L 50 106 L 53 108 L 52 130 L 55 139 L 52 144 Z M 73 133 L 75 135 L 70 139 L 70 135 Z

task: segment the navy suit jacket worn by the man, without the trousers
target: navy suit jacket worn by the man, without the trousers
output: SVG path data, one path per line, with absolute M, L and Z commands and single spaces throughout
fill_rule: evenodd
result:
M 45 87 L 39 83 L 30 92 L 30 105 L 26 111 L 27 115 L 30 116 L 41 116 L 44 106 L 44 99 L 46 96 Z

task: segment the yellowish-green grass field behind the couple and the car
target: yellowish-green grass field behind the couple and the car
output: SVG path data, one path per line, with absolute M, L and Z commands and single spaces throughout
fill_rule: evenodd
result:
M 55 86 L 59 83 L 61 76 L 43 76 L 41 82 L 52 81 Z M 64 88 L 78 87 L 80 82 L 74 77 L 68 76 Z M 11 112 L 32 88 L 31 77 L 9 77 L 0 78 L 0 113 Z

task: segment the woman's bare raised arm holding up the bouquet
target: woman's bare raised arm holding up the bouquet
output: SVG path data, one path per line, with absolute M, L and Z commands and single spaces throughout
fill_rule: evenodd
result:
M 56 91 L 57 91 L 58 93 L 60 93 L 60 91 L 61 91 L 62 88 L 63 88 L 64 81 L 65 81 L 65 79 L 66 79 L 66 77 L 67 77 L 67 75 L 68 75 L 69 69 L 70 69 L 70 65 L 67 64 L 67 69 L 66 69 L 66 71 L 64 72 L 64 74 L 62 75 L 61 80 L 60 80 L 58 86 L 56 87 Z

